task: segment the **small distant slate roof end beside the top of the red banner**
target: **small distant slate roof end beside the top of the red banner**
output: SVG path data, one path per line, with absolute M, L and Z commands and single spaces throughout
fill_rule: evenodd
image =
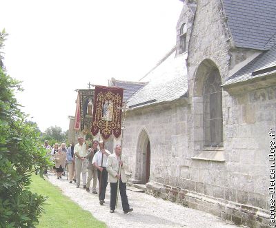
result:
M 127 101 L 130 99 L 130 96 L 135 94 L 138 90 L 144 87 L 147 83 L 145 82 L 132 82 L 132 81 L 119 81 L 114 78 L 110 81 L 110 86 L 124 88 L 124 97 L 123 100 Z

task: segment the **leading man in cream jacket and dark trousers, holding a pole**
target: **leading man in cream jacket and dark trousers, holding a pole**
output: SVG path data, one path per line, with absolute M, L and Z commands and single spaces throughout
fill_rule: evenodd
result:
M 119 172 L 119 169 L 121 172 Z M 106 170 L 108 171 L 108 182 L 110 183 L 110 213 L 114 213 L 115 210 L 118 181 L 124 214 L 133 211 L 128 204 L 128 196 L 126 196 L 126 174 L 124 163 L 121 160 L 121 145 L 116 145 L 115 153 L 108 156 Z

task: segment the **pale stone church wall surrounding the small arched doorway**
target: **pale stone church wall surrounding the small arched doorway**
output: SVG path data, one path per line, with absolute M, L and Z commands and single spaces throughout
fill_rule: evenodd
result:
M 132 181 L 144 182 L 145 135 L 150 141 L 150 181 L 178 185 L 187 176 L 187 106 L 184 99 L 128 112 L 124 132 L 124 159 Z

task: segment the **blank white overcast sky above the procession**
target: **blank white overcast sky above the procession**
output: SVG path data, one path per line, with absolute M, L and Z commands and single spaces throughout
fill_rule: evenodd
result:
M 76 89 L 138 81 L 175 45 L 179 0 L 2 0 L 8 74 L 23 112 L 44 131 L 68 129 Z

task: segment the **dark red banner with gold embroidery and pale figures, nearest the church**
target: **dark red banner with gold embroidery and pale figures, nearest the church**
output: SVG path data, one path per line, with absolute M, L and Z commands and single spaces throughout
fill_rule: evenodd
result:
M 121 109 L 124 89 L 118 87 L 95 86 L 94 110 L 91 132 L 108 139 L 113 133 L 116 138 L 121 135 Z

